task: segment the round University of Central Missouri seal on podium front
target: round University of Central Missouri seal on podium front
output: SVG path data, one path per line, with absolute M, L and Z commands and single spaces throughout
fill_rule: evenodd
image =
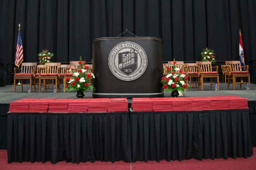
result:
M 122 42 L 109 53 L 108 66 L 116 78 L 132 81 L 139 78 L 146 70 L 147 54 L 139 44 Z

